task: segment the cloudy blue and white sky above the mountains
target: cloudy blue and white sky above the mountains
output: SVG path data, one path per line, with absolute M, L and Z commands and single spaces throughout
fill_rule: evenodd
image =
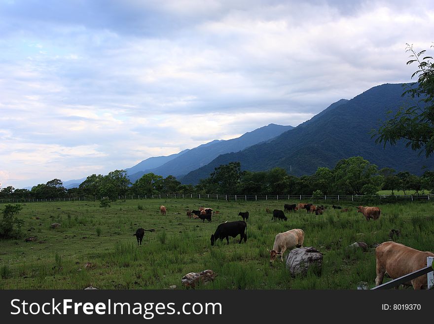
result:
M 0 0 L 0 187 L 108 174 L 411 81 L 432 1 Z

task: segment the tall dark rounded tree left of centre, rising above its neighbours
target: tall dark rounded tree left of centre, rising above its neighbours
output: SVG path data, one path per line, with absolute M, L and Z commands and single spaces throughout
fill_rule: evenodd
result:
M 236 194 L 242 174 L 240 162 L 229 162 L 214 169 L 211 182 L 218 185 L 219 193 Z

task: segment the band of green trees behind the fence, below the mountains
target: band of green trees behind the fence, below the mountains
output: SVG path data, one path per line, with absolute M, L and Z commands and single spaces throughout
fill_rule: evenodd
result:
M 422 176 L 391 168 L 378 169 L 375 164 L 354 156 L 337 162 L 333 169 L 319 167 L 315 174 L 296 177 L 283 168 L 268 171 L 242 171 L 240 162 L 230 162 L 214 169 L 210 177 L 201 179 L 195 186 L 181 184 L 174 176 L 148 173 L 134 183 L 125 170 L 115 170 L 108 175 L 88 176 L 78 187 L 66 189 L 59 179 L 41 183 L 31 190 L 7 186 L 0 189 L 0 199 L 45 199 L 107 197 L 116 200 L 125 195 L 152 194 L 248 194 L 248 195 L 375 195 L 379 190 L 414 190 L 434 193 L 434 172 Z

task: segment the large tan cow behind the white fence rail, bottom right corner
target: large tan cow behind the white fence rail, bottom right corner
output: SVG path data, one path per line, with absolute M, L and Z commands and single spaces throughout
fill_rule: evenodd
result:
M 397 279 L 413 271 L 427 266 L 427 256 L 434 256 L 432 252 L 422 252 L 405 245 L 392 241 L 384 242 L 375 249 L 376 274 L 375 286 L 383 283 L 384 274 L 392 279 Z M 413 286 L 414 289 L 426 289 L 427 275 L 417 277 L 404 283 L 406 286 Z

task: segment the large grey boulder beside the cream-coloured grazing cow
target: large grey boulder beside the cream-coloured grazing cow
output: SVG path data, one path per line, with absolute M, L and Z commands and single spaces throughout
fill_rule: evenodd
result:
M 317 275 L 321 275 L 323 253 L 314 247 L 293 249 L 287 255 L 286 265 L 292 277 L 305 276 L 309 268 L 313 268 Z

